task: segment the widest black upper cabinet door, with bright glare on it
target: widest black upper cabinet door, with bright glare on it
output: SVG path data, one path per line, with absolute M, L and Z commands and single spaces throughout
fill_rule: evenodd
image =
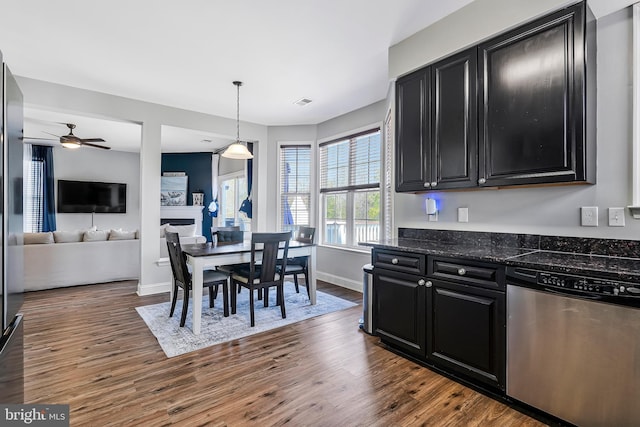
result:
M 591 179 L 585 47 L 584 4 L 480 45 L 481 185 Z

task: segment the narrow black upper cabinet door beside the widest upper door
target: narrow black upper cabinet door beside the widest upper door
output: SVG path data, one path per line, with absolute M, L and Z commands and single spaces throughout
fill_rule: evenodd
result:
M 431 188 L 477 186 L 477 49 L 431 66 Z

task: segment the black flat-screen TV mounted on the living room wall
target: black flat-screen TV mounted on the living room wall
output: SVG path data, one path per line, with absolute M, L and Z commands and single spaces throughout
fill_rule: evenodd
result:
M 58 213 L 126 213 L 127 184 L 58 180 Z

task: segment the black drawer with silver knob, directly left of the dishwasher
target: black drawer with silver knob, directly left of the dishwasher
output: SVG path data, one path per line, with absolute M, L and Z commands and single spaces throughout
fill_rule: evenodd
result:
M 495 264 L 434 257 L 429 264 L 429 275 L 487 289 L 505 290 L 504 267 Z

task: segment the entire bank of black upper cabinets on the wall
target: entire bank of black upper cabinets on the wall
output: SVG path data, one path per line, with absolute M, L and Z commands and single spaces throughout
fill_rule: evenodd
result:
M 585 2 L 399 78 L 396 190 L 595 182 Z

